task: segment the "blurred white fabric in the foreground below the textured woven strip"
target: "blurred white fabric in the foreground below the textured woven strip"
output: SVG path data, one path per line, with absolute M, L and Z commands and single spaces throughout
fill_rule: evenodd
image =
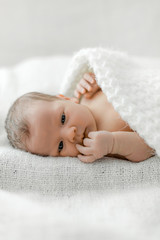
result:
M 29 198 L 29 199 L 28 199 Z M 158 240 L 159 188 L 37 200 L 1 192 L 3 240 Z

